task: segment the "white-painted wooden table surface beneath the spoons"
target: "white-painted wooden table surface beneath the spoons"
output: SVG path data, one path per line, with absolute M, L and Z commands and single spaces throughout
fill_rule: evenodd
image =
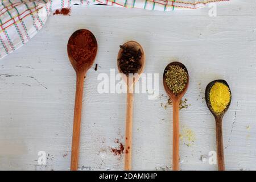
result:
M 216 17 L 208 11 L 74 6 L 71 16 L 50 16 L 26 46 L 0 60 L 0 169 L 69 169 L 76 77 L 67 41 L 88 28 L 98 41 L 99 67 L 90 69 L 84 86 L 80 170 L 123 169 L 110 147 L 125 140 L 126 94 L 99 94 L 97 76 L 116 68 L 118 46 L 127 40 L 144 47 L 145 72 L 160 75 L 156 100 L 135 94 L 133 169 L 171 169 L 172 107 L 165 108 L 161 78 L 179 60 L 191 78 L 189 106 L 180 111 L 181 170 L 217 169 L 208 163 L 216 150 L 214 118 L 202 99 L 217 78 L 232 89 L 223 123 L 226 169 L 256 170 L 256 2 L 218 4 Z M 38 164 L 39 151 L 46 152 L 46 165 Z

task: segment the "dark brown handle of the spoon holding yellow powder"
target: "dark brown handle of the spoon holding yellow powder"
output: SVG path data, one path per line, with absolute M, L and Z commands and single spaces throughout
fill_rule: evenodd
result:
M 225 171 L 223 138 L 222 138 L 222 118 L 216 118 L 216 144 L 217 144 L 218 170 Z

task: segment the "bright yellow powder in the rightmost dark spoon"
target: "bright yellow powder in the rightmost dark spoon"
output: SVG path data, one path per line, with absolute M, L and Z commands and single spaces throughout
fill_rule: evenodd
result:
M 228 106 L 231 94 L 228 86 L 221 82 L 216 82 L 210 89 L 209 97 L 212 110 L 217 115 L 220 115 L 226 109 L 226 106 Z

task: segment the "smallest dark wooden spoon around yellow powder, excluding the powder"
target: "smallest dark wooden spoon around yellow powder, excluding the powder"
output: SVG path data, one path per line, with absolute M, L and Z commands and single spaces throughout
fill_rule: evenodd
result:
M 228 86 L 228 88 L 229 88 L 229 85 L 225 80 L 214 80 L 214 81 L 210 82 L 205 89 L 205 101 L 207 102 L 207 106 L 208 106 L 210 112 L 213 114 L 215 121 L 216 121 L 216 144 L 217 144 L 218 170 L 225 171 L 223 138 L 222 138 L 222 118 L 223 118 L 224 114 L 226 113 L 226 111 L 229 109 L 229 105 L 231 102 L 231 91 L 229 88 L 230 101 L 229 101 L 228 106 L 226 106 L 226 109 L 223 111 L 222 114 L 217 115 L 216 113 L 214 113 L 212 106 L 210 105 L 210 98 L 209 98 L 210 89 L 216 82 L 221 82 L 221 83 L 225 84 L 226 86 Z

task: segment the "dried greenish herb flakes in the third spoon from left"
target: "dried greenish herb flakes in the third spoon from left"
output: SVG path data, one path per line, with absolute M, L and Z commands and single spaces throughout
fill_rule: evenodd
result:
M 170 65 L 170 68 L 166 72 L 165 81 L 173 93 L 180 93 L 187 84 L 188 73 L 179 65 Z

